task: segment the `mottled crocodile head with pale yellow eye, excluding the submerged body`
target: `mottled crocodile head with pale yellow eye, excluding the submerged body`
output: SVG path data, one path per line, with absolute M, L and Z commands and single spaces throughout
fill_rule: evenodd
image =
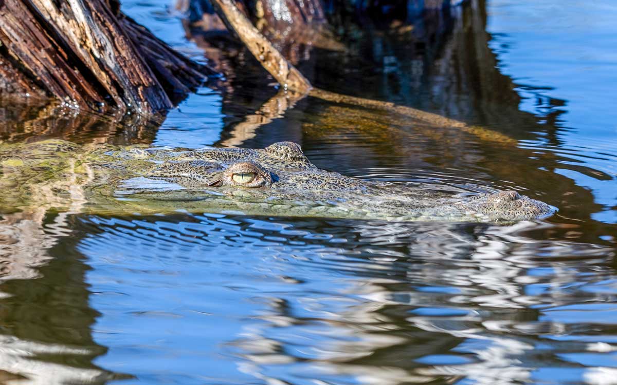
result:
M 292 142 L 264 149 L 149 151 L 158 164 L 146 178 L 165 180 L 175 188 L 160 191 L 145 186 L 131 189 L 131 195 L 177 200 L 178 207 L 276 216 L 495 223 L 539 219 L 555 211 L 514 191 L 452 195 L 343 176 L 317 168 Z

